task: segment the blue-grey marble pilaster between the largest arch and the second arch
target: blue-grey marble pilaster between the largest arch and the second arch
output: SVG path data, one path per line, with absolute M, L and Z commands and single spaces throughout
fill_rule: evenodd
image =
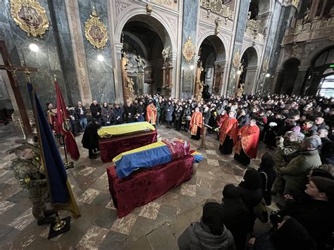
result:
M 193 1 L 193 0 L 184 0 L 183 1 L 183 34 L 182 34 L 182 48 L 185 42 L 187 42 L 187 39 L 189 37 L 192 38 L 192 44 L 196 44 L 196 37 L 197 37 L 197 20 L 198 18 L 198 10 L 199 10 L 199 1 Z M 194 53 L 198 48 L 195 47 Z M 180 51 L 182 53 L 182 51 Z M 192 82 L 192 86 L 190 89 L 187 87 L 184 87 L 184 81 L 183 81 L 183 71 L 184 70 L 190 70 L 190 65 L 194 65 L 196 68 L 197 63 L 195 62 L 195 57 L 192 58 L 192 61 L 187 62 L 185 61 L 185 57 L 181 56 L 181 77 L 180 77 L 180 98 L 191 98 L 194 82 Z M 194 70 L 193 70 L 194 72 Z M 194 77 L 193 77 L 194 79 Z

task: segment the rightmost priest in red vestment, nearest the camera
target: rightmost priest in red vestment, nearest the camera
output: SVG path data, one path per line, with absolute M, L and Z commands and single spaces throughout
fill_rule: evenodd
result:
M 237 144 L 235 145 L 235 160 L 242 165 L 249 165 L 250 159 L 256 158 L 259 146 L 260 129 L 256 120 L 252 119 L 248 125 L 240 128 L 237 132 Z

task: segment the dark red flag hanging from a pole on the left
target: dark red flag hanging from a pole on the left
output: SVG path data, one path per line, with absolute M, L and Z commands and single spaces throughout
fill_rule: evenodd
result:
M 59 88 L 58 82 L 54 81 L 54 87 L 56 87 L 56 96 L 57 96 L 57 127 L 58 132 L 61 132 L 64 136 L 64 141 L 66 144 L 66 149 L 70 158 L 77 161 L 80 158 L 80 153 L 78 149 L 77 142 L 71 131 L 64 130 L 64 122 L 70 123 L 68 119 L 68 113 L 66 111 L 66 104 L 63 99 L 63 94 L 61 94 L 61 89 Z M 70 124 L 68 124 L 70 126 Z

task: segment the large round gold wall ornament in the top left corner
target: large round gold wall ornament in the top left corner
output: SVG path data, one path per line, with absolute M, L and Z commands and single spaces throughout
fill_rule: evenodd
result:
M 11 17 L 30 37 L 42 37 L 49 29 L 45 8 L 35 0 L 11 0 Z

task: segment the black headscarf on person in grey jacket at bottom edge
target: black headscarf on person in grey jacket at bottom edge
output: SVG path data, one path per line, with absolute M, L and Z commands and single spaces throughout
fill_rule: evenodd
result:
M 203 207 L 202 223 L 210 228 L 214 235 L 221 235 L 224 230 L 223 205 L 216 202 L 208 202 Z

